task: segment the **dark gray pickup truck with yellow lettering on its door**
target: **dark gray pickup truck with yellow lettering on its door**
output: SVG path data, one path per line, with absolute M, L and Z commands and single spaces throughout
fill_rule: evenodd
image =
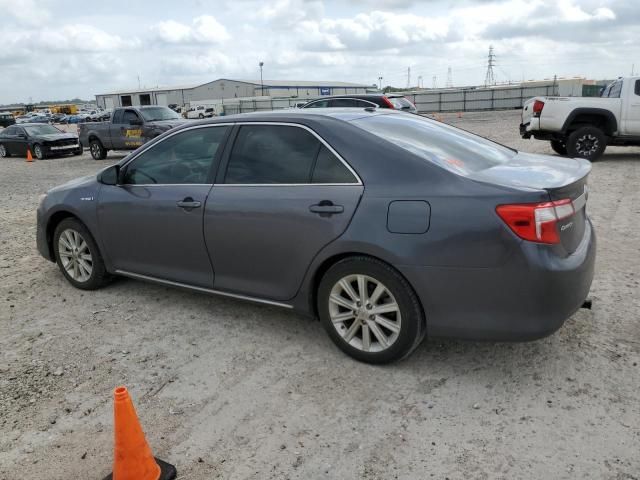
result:
M 168 107 L 116 108 L 106 122 L 78 124 L 78 136 L 95 160 L 106 158 L 109 150 L 135 150 L 152 138 L 185 122 Z

